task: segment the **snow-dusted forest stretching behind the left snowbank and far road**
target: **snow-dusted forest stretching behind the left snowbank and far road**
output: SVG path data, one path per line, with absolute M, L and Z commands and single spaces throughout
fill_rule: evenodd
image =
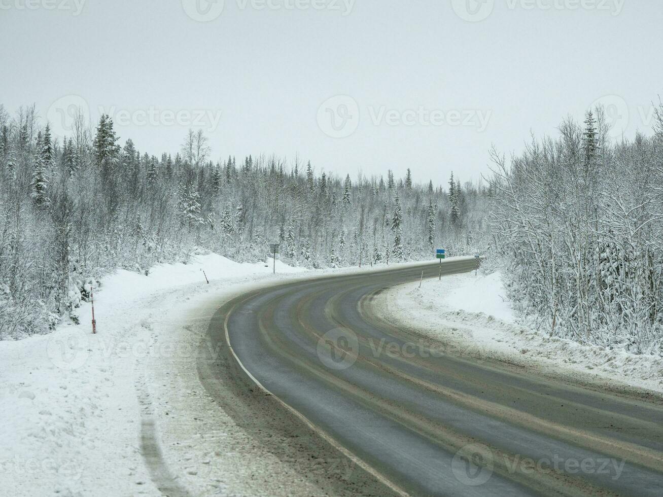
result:
M 276 156 L 214 160 L 189 131 L 154 154 L 82 115 L 54 137 L 34 106 L 0 105 L 0 338 L 45 333 L 98 279 L 211 250 L 296 266 L 387 264 L 485 247 L 485 188 L 451 179 L 339 178 Z M 431 165 L 434 167 L 434 164 Z M 361 170 L 361 165 L 357 165 Z

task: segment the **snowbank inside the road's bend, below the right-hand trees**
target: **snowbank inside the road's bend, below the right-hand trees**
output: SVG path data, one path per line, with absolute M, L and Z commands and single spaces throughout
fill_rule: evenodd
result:
M 496 357 L 556 376 L 663 392 L 663 359 L 581 345 L 548 337 L 520 322 L 507 300 L 501 274 L 473 272 L 405 284 L 383 292 L 376 302 L 389 321 L 413 322 L 426 335 L 457 345 L 468 355 Z

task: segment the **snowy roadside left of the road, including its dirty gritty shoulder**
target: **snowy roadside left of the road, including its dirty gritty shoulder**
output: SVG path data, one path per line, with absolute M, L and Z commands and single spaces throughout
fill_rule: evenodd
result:
M 315 494 L 219 409 L 200 384 L 196 357 L 224 300 L 286 279 L 354 271 L 277 261 L 274 276 L 271 260 L 237 264 L 199 255 L 149 276 L 119 271 L 105 278 L 95 291 L 96 335 L 90 304 L 83 304 L 80 325 L 1 341 L 2 493 L 156 496 L 162 491 L 154 479 L 174 476 L 192 495 Z

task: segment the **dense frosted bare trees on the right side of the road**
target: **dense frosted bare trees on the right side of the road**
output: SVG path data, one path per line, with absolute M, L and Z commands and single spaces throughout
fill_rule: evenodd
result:
M 493 152 L 489 223 L 512 297 L 550 335 L 663 352 L 663 113 L 611 142 L 602 109 Z

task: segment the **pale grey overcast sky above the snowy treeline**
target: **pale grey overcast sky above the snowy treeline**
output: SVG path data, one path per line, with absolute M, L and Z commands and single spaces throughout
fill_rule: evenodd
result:
M 214 159 L 439 184 L 601 98 L 649 133 L 662 25 L 651 0 L 0 0 L 0 103 L 58 134 L 103 110 L 151 154 L 202 127 Z

